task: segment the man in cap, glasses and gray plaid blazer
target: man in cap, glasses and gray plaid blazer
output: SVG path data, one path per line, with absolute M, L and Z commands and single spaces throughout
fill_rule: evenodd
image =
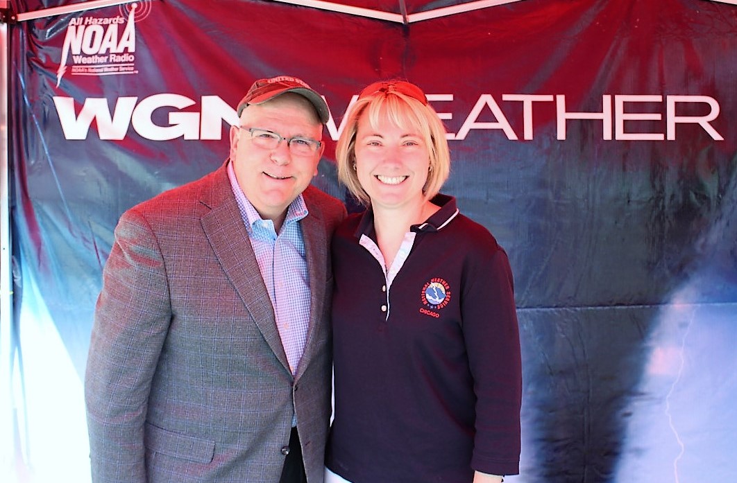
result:
M 85 375 L 95 483 L 322 482 L 346 214 L 309 186 L 328 107 L 282 76 L 237 113 L 220 169 L 116 227 Z

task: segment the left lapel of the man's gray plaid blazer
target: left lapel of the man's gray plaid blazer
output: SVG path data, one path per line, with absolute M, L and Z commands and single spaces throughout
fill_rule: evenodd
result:
M 223 184 L 230 191 L 226 176 Z M 276 358 L 291 374 L 273 307 L 232 191 L 200 220 L 210 246 Z M 207 202 L 205 204 L 208 204 Z

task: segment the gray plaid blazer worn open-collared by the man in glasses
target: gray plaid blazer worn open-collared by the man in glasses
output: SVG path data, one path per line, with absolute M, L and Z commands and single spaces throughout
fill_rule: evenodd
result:
M 329 240 L 346 211 L 316 188 L 304 199 L 312 298 L 295 377 L 225 165 L 122 215 L 85 374 L 95 483 L 278 482 L 294 412 L 307 480 L 323 481 Z

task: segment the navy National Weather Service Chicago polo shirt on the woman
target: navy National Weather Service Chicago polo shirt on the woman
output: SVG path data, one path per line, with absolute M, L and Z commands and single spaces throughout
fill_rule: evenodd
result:
M 349 216 L 332 240 L 327 466 L 353 483 L 471 482 L 474 470 L 519 470 L 509 260 L 486 228 L 458 214 L 453 197 L 433 202 L 441 209 L 411 228 L 395 274 L 367 250 L 376 240 L 370 209 Z

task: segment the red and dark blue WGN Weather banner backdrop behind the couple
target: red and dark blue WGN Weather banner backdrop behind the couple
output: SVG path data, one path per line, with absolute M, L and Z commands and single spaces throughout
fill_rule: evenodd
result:
M 334 141 L 354 94 L 389 77 L 430 94 L 453 157 L 443 191 L 514 271 L 523 462 L 508 481 L 733 481 L 737 7 L 525 0 L 402 25 L 167 0 L 9 32 L 11 482 L 89 480 L 82 380 L 116 221 L 220 166 L 238 100 L 278 74 L 326 97 L 314 184 L 351 208 Z

